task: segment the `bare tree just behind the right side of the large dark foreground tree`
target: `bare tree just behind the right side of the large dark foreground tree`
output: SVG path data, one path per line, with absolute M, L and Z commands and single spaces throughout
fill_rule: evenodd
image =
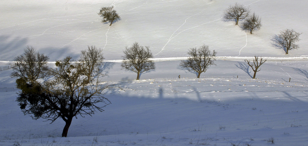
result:
M 102 51 L 95 46 L 88 46 L 87 50 L 81 51 L 81 56 L 78 61 L 87 70 L 88 79 L 93 78 L 93 76 L 101 72 L 100 67 L 103 65 L 104 60 Z

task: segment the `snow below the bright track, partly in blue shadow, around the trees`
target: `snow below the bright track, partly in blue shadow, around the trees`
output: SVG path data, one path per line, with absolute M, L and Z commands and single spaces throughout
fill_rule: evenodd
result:
M 93 117 L 73 119 L 66 138 L 62 120 L 32 120 L 20 111 L 11 70 L 1 71 L 1 145 L 306 145 L 305 62 L 267 62 L 251 79 L 245 62 L 218 60 L 197 79 L 180 61 L 156 62 L 141 75 L 109 66 L 111 105 Z M 116 73 L 113 73 L 116 72 Z M 178 78 L 181 75 L 181 78 Z M 289 79 L 291 78 L 291 82 Z

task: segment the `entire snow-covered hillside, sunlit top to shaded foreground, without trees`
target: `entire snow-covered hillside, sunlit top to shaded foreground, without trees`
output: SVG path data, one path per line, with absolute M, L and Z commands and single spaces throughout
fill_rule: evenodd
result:
M 235 2 L 262 17 L 253 35 L 221 19 Z M 102 24 L 102 6 L 122 20 Z M 308 2 L 303 0 L 3 0 L 0 1 L 0 66 L 12 64 L 27 45 L 50 57 L 72 56 L 87 45 L 103 49 L 111 105 L 93 117 L 52 124 L 22 114 L 11 69 L 0 71 L 0 145 L 308 145 Z M 241 22 L 240 22 L 241 23 Z M 282 29 L 302 33 L 289 55 L 271 45 Z M 125 46 L 150 46 L 156 70 L 121 70 Z M 179 67 L 187 50 L 202 44 L 217 51 L 216 66 L 196 75 Z M 258 79 L 244 62 L 268 62 Z M 52 62 L 50 63 L 52 66 Z M 178 76 L 180 75 L 180 79 Z M 289 82 L 291 79 L 291 82 Z

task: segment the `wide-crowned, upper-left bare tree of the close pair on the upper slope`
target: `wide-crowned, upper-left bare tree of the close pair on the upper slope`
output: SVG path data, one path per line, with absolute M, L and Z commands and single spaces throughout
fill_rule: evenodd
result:
M 229 5 L 229 8 L 225 10 L 223 17 L 227 21 L 235 20 L 235 25 L 238 25 L 238 21 L 248 17 L 249 13 L 249 8 L 246 8 L 244 5 L 235 3 L 234 5 Z

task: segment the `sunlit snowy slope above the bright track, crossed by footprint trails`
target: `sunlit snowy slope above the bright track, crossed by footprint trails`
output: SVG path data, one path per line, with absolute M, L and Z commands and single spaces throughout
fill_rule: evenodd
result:
M 262 18 L 261 30 L 245 33 L 235 22 L 221 19 L 235 2 L 249 6 Z M 50 56 L 78 58 L 87 45 L 104 49 L 106 60 L 121 59 L 135 41 L 150 46 L 155 58 L 184 57 L 202 44 L 217 56 L 293 57 L 307 54 L 307 2 L 301 0 L 104 0 L 1 1 L 0 60 L 12 61 L 26 45 Z M 102 24 L 97 12 L 114 6 L 120 21 Z M 241 22 L 240 22 L 241 23 Z M 270 37 L 282 29 L 302 33 L 300 49 L 285 55 L 271 46 Z

